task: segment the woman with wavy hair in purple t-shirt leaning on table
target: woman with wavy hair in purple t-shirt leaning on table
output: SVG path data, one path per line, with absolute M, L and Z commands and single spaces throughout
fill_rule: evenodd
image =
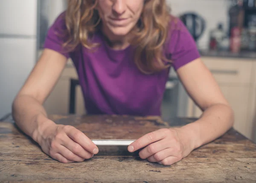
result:
M 181 128 L 160 129 L 128 147 L 172 165 L 224 134 L 233 112 L 183 23 L 165 0 L 70 0 L 48 31 L 45 50 L 13 103 L 13 117 L 42 150 L 62 162 L 81 162 L 97 146 L 73 126 L 57 125 L 42 106 L 71 57 L 89 114 L 160 115 L 170 66 L 204 111 Z

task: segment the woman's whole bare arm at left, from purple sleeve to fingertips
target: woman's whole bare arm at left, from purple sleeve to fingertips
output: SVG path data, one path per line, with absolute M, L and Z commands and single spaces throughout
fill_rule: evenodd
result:
M 67 58 L 64 55 L 45 49 L 12 106 L 12 115 L 17 126 L 39 143 L 46 154 L 62 163 L 83 161 L 99 151 L 75 127 L 57 125 L 47 118 L 43 103 L 66 63 Z

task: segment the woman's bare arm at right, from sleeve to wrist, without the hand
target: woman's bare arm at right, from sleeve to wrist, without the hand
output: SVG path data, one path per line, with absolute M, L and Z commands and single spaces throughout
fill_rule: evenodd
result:
M 199 120 L 182 127 L 193 132 L 194 148 L 197 148 L 233 126 L 233 110 L 201 59 L 181 67 L 177 74 L 188 94 L 203 111 Z

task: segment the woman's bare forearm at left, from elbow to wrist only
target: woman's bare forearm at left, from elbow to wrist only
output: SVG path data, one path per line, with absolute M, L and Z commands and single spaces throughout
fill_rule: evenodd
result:
M 12 105 L 12 116 L 17 126 L 38 142 L 38 136 L 47 126 L 55 124 L 47 118 L 44 107 L 29 95 L 17 96 Z

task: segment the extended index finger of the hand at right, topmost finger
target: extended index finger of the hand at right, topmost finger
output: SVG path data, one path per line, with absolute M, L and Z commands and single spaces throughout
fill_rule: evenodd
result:
M 128 146 L 128 151 L 129 152 L 137 151 L 138 149 L 141 149 L 147 146 L 148 144 L 151 144 L 153 142 L 163 139 L 164 137 L 166 137 L 166 130 L 168 129 L 159 129 L 157 131 L 145 134 L 143 137 L 140 137 L 139 139 L 131 143 Z

